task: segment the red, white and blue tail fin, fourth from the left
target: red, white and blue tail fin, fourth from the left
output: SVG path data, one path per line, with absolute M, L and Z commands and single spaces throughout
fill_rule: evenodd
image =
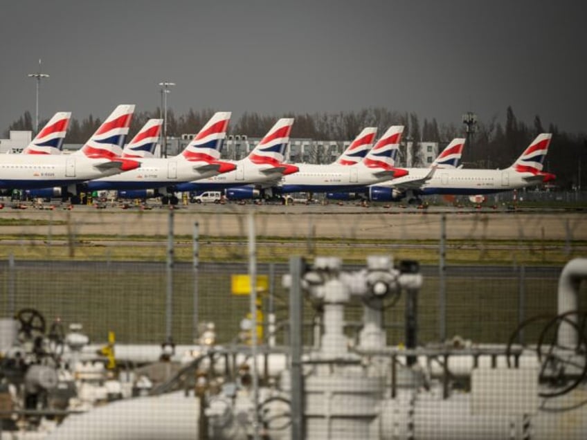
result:
M 192 142 L 181 152 L 183 157 L 188 161 L 217 161 L 220 158 L 224 138 L 226 138 L 226 129 L 231 120 L 231 114 L 230 111 L 214 113 L 192 139 Z

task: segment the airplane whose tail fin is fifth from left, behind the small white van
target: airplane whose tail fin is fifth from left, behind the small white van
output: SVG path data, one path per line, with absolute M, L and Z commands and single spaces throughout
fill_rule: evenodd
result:
M 231 172 L 199 181 L 179 183 L 177 191 L 192 192 L 226 190 L 238 199 L 250 199 L 264 187 L 275 185 L 282 176 L 298 172 L 298 167 L 283 163 L 283 152 L 289 142 L 293 118 L 281 118 L 262 138 L 260 143 L 240 161 L 229 161 L 236 166 Z M 219 152 L 215 152 L 219 157 Z M 228 193 L 228 190 L 227 190 Z

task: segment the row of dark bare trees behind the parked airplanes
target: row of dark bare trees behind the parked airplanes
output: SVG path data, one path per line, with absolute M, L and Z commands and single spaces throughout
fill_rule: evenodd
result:
M 187 114 L 176 116 L 168 109 L 168 136 L 180 136 L 195 133 L 213 115 L 215 110 L 190 109 Z M 134 136 L 150 118 L 159 118 L 161 109 L 134 113 L 129 136 Z M 404 140 L 411 140 L 412 166 L 424 166 L 419 141 L 440 143 L 444 147 L 453 138 L 464 137 L 464 125 L 454 123 L 438 124 L 436 119 L 424 119 L 420 122 L 416 113 L 390 111 L 381 107 L 361 109 L 359 111 L 341 111 L 338 113 L 287 113 L 285 115 L 261 115 L 245 112 L 238 120 L 233 120 L 229 131 L 234 134 L 246 134 L 249 137 L 261 137 L 275 123 L 278 117 L 295 118 L 291 130 L 292 138 L 311 138 L 318 140 L 350 140 L 363 127 L 378 127 L 383 134 L 390 125 L 404 125 Z M 42 127 L 47 120 L 39 121 Z M 71 119 L 65 143 L 84 143 L 101 124 L 99 118 L 92 115 L 83 120 Z M 9 130 L 33 130 L 33 118 L 26 111 Z M 470 144 L 464 149 L 462 161 L 467 168 L 505 168 L 523 152 L 523 149 L 539 133 L 552 133 L 549 154 L 545 160 L 545 170 L 557 174 L 557 184 L 570 189 L 579 183 L 587 189 L 587 137 L 586 134 L 568 134 L 559 131 L 552 123 L 545 127 L 540 116 L 536 115 L 532 124 L 520 121 L 514 115 L 512 107 L 507 107 L 505 125 L 501 125 L 494 116 L 488 121 L 479 121 L 476 131 L 471 136 Z M 405 147 L 401 150 L 406 154 Z

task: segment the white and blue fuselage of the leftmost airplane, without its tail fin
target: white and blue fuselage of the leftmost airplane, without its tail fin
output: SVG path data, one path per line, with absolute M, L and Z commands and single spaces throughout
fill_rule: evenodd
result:
M 109 163 L 107 158 L 80 154 L 0 154 L 0 187 L 28 190 L 118 174 L 120 167 Z

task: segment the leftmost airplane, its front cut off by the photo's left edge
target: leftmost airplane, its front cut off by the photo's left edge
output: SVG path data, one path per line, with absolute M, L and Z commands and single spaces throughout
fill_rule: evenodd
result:
M 138 168 L 138 161 L 120 156 L 133 112 L 134 104 L 116 107 L 73 154 L 1 154 L 0 189 L 44 189 L 51 185 L 75 191 L 75 183 Z

